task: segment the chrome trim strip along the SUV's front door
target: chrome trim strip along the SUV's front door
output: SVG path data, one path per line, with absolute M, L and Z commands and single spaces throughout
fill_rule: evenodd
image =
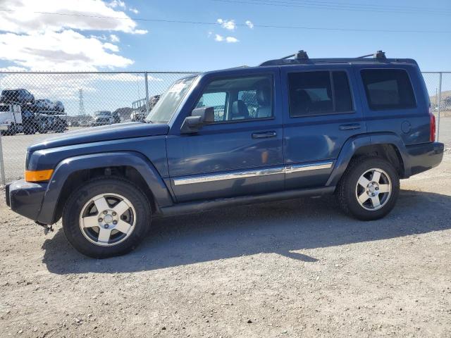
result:
M 204 182 L 215 182 L 222 180 L 237 180 L 246 177 L 258 177 L 266 175 L 275 175 L 285 173 L 285 168 L 270 168 L 270 169 L 260 169 L 260 170 L 247 170 L 247 171 L 235 171 L 233 173 L 227 174 L 213 174 L 213 175 L 199 175 L 196 177 L 183 177 L 173 179 L 174 185 L 183 184 L 193 184 L 193 183 L 204 183 Z

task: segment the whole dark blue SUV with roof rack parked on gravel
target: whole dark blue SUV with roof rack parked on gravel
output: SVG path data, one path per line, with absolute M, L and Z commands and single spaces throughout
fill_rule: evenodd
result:
M 29 146 L 6 202 L 47 230 L 62 218 L 75 249 L 105 258 L 135 248 L 159 215 L 335 194 L 345 213 L 377 220 L 400 178 L 442 157 L 414 60 L 299 51 L 177 80 L 144 122 Z

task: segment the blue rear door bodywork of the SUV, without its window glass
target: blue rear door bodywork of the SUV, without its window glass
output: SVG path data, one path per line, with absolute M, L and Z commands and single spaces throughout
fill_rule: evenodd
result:
M 290 117 L 288 74 L 312 71 L 344 71 L 350 82 L 354 109 L 345 113 L 328 113 Z M 362 105 L 352 66 L 299 65 L 281 68 L 284 118 L 284 154 L 288 170 L 285 189 L 322 187 L 333 170 L 338 154 L 347 139 L 366 132 Z M 308 165 L 311 170 L 304 170 Z

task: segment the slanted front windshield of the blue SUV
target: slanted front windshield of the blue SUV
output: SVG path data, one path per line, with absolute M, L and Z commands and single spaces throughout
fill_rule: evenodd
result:
M 166 93 L 161 96 L 149 115 L 147 115 L 146 121 L 168 123 L 195 78 L 196 76 L 192 76 L 175 81 Z

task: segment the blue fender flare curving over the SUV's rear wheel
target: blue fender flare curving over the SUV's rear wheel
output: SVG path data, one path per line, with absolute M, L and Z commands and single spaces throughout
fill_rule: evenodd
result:
M 337 161 L 335 161 L 332 173 L 330 173 L 329 179 L 326 182 L 326 186 L 335 187 L 338 184 L 338 181 L 340 181 L 343 173 L 345 173 L 352 156 L 354 156 L 359 148 L 362 146 L 371 146 L 376 144 L 393 144 L 393 146 L 397 148 L 397 151 L 399 151 L 402 158 L 404 167 L 403 177 L 409 177 L 411 175 L 409 156 L 402 139 L 393 133 L 377 132 L 351 137 L 347 140 L 347 142 L 345 142 L 345 144 L 343 144 Z

